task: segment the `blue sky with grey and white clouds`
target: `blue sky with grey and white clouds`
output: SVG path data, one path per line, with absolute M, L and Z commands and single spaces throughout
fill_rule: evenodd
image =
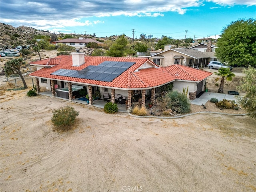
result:
M 240 18 L 256 18 L 256 0 L 0 0 L 0 22 L 56 34 L 214 38 Z

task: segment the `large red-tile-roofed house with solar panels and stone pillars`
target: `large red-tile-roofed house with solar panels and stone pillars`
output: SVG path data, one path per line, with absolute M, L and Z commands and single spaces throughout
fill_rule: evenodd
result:
M 212 75 L 182 65 L 162 68 L 148 58 L 85 56 L 82 52 L 38 60 L 30 65 L 37 67 L 30 76 L 36 78 L 38 92 L 40 89 L 51 90 L 52 96 L 56 96 L 57 89 L 72 100 L 72 87 L 84 87 L 88 90 L 90 104 L 92 95 L 100 91 L 102 98 L 104 93 L 111 95 L 112 102 L 115 94 L 124 96 L 128 107 L 132 105 L 134 94 L 141 94 L 142 104 L 145 104 L 146 95 L 154 96 L 158 88 L 171 82 L 180 92 L 188 87 L 188 97 L 194 99 L 204 91 L 206 78 Z M 154 102 L 154 97 L 151 100 Z

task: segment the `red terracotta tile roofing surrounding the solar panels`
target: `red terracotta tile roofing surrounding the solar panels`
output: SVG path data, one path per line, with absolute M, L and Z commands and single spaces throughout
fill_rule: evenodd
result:
M 135 64 L 133 64 L 130 68 L 128 68 L 111 82 L 51 75 L 53 72 L 59 69 L 82 70 L 89 65 L 96 66 L 104 61 L 135 62 Z M 176 79 L 200 81 L 212 74 L 210 72 L 205 72 L 203 70 L 197 70 L 181 65 L 173 65 L 166 68 L 152 67 L 136 71 L 146 62 L 151 61 L 147 58 L 85 56 L 85 64 L 79 67 L 74 67 L 72 66 L 72 56 L 60 55 L 52 59 L 44 59 L 36 62 L 31 62 L 30 64 L 34 65 L 55 66 L 52 66 L 50 68 L 42 68 L 38 71 L 31 73 L 30 76 L 116 88 L 148 88 L 160 86 L 162 84 L 172 82 Z M 152 66 L 156 66 L 153 62 L 151 63 Z M 179 75 L 177 76 L 176 74 Z

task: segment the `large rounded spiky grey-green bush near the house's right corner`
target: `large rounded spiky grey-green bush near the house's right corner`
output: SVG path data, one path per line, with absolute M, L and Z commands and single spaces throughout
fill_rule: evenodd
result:
M 167 108 L 170 108 L 176 113 L 188 113 L 190 112 L 190 102 L 186 95 L 178 92 L 177 90 L 168 91 L 166 97 L 170 99 L 167 104 Z

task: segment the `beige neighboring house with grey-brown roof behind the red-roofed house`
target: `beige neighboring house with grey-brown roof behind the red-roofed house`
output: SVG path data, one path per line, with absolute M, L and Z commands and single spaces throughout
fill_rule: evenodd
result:
M 214 52 L 201 52 L 193 49 L 173 49 L 164 50 L 152 56 L 144 56 L 153 61 L 158 66 L 170 66 L 180 64 L 184 66 L 202 67 L 214 60 Z

